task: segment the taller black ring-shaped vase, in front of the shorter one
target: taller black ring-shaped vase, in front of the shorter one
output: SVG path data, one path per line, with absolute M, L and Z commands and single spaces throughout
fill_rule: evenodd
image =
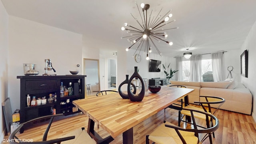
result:
M 134 73 L 130 77 L 129 82 L 128 82 L 128 87 L 127 87 L 128 97 L 133 102 L 140 102 L 140 101 L 142 101 L 142 99 L 144 98 L 144 94 L 145 94 L 144 82 L 143 82 L 140 74 L 138 73 L 137 68 L 138 68 L 137 66 L 134 66 Z M 133 78 L 138 78 L 140 80 L 141 84 L 142 84 L 141 91 L 138 94 L 133 94 L 131 89 L 130 89 Z

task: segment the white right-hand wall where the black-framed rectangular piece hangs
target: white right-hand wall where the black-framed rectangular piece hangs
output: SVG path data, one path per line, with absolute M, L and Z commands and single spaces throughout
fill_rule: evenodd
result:
M 256 81 L 256 64 L 255 64 L 255 55 L 256 55 L 256 22 L 252 26 L 252 29 L 250 30 L 241 50 L 240 54 L 244 52 L 244 50 L 248 50 L 248 78 L 245 78 L 243 76 L 241 77 L 241 82 L 249 88 L 249 90 L 252 93 L 252 100 L 253 100 L 253 108 L 252 108 L 252 117 L 254 118 L 254 121 L 256 121 L 256 89 L 255 89 L 255 81 Z

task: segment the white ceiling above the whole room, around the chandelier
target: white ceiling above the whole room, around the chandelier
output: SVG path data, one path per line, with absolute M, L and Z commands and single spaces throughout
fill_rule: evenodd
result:
M 240 49 L 256 21 L 256 0 L 140 0 L 150 4 L 152 15 L 172 9 L 176 22 L 168 24 L 166 40 L 156 43 L 163 56 Z M 118 50 L 131 44 L 121 39 L 125 22 L 138 28 L 140 20 L 134 0 L 2 0 L 9 15 L 83 34 L 86 46 Z M 132 47 L 135 49 L 136 47 Z M 153 52 L 156 52 L 154 48 Z

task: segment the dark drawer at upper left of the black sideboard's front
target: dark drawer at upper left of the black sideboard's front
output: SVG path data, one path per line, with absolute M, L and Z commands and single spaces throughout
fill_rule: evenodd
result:
M 47 90 L 57 88 L 56 80 L 30 80 L 26 81 L 26 90 Z

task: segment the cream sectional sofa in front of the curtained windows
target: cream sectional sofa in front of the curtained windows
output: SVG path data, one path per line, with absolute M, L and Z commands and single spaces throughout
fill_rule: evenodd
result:
M 203 101 L 199 96 L 218 96 L 226 100 L 220 107 L 243 114 L 252 114 L 252 94 L 242 83 L 234 81 L 223 82 L 180 82 L 171 81 L 172 85 L 183 85 L 195 89 L 188 95 L 189 102 Z M 216 107 L 216 106 L 213 106 Z

